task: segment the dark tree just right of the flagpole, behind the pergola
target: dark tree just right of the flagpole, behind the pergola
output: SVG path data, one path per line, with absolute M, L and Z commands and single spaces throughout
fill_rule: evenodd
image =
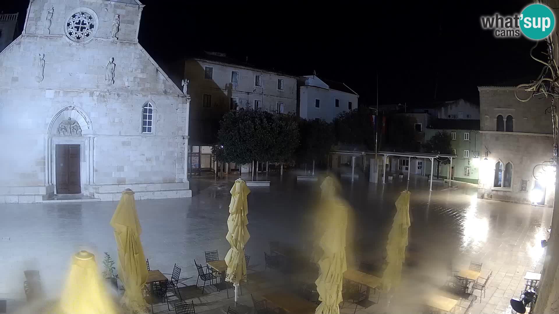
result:
M 396 151 L 418 151 L 417 120 L 408 115 L 394 115 L 390 117 L 387 130 L 387 144 Z

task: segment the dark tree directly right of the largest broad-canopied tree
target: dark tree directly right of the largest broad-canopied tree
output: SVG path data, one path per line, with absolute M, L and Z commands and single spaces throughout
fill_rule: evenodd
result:
M 319 119 L 300 119 L 299 132 L 301 145 L 295 153 L 297 159 L 305 163 L 308 160 L 315 160 L 318 163 L 325 161 L 332 145 L 334 145 L 332 123 Z

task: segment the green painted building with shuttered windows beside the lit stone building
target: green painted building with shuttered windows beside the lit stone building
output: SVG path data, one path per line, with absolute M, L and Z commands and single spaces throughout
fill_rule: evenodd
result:
M 481 149 L 480 120 L 434 119 L 424 131 L 425 141 L 439 131 L 450 134 L 453 154 L 456 155 L 452 160 L 452 180 L 477 184 Z M 450 164 L 446 162 L 440 163 L 439 178 L 448 178 Z M 437 178 L 437 161 L 434 163 L 433 176 Z M 425 169 L 430 169 L 430 166 L 427 160 Z

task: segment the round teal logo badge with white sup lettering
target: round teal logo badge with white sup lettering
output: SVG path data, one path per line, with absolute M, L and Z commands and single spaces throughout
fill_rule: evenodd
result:
M 555 16 L 543 4 L 530 4 L 520 14 L 520 30 L 529 39 L 544 39 L 555 27 Z

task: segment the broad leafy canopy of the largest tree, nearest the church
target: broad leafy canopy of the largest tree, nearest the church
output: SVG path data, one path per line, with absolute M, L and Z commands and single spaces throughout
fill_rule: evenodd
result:
M 236 164 L 283 161 L 299 145 L 299 128 L 288 115 L 241 108 L 225 113 L 217 138 L 217 160 Z

